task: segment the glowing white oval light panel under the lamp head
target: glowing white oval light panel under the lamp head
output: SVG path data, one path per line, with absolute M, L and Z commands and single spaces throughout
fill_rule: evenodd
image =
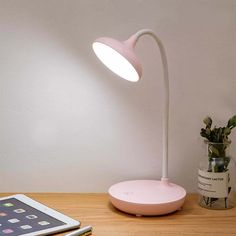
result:
M 93 50 L 101 62 L 112 72 L 131 82 L 139 80 L 132 64 L 113 48 L 99 42 L 93 43 Z

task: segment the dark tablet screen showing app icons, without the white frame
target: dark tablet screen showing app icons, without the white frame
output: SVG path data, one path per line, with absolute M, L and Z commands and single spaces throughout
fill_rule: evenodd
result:
M 65 225 L 16 198 L 0 200 L 0 236 L 19 236 Z

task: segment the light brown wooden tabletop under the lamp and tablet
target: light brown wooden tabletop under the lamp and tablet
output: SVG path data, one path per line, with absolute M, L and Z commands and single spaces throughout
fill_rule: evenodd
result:
M 11 195 L 2 193 L 0 196 Z M 82 226 L 92 225 L 94 236 L 227 236 L 236 235 L 236 208 L 207 210 L 188 194 L 182 210 L 159 217 L 136 217 L 122 213 L 109 203 L 107 194 L 30 193 L 29 197 L 54 208 Z M 63 234 L 57 234 L 62 236 Z

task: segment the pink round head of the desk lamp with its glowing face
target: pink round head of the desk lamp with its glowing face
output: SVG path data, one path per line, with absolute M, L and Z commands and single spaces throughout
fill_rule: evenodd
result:
M 120 42 L 112 38 L 99 38 L 93 43 L 96 56 L 106 67 L 121 78 L 136 82 L 142 69 L 133 47 L 132 41 Z

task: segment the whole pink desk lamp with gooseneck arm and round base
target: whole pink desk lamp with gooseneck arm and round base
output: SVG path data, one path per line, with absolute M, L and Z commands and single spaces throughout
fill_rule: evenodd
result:
M 142 68 L 134 47 L 142 35 L 152 36 L 159 46 L 164 74 L 163 110 L 163 158 L 161 180 L 133 180 L 115 184 L 109 188 L 111 203 L 126 213 L 142 215 L 163 215 L 181 208 L 186 191 L 168 179 L 168 121 L 169 121 L 169 79 L 165 49 L 155 33 L 143 29 L 124 42 L 112 38 L 98 38 L 93 43 L 97 57 L 111 71 L 123 79 L 136 82 L 142 75 Z

